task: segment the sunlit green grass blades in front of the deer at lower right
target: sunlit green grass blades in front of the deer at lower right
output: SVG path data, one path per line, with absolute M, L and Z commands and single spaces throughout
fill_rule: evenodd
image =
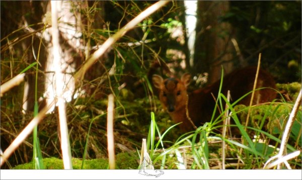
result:
M 259 88 L 260 89 L 260 88 Z M 255 91 L 258 91 L 256 89 Z M 164 135 L 168 133 L 171 129 L 175 128 L 178 124 L 173 125 L 168 128 L 163 135 L 158 130 L 158 126 L 156 123 L 156 118 L 154 113 L 152 112 L 152 118 L 150 121 L 150 128 L 147 137 L 148 142 L 148 150 L 150 152 L 150 157 L 154 164 L 158 164 L 161 162 L 161 165 L 158 166 L 161 169 L 164 168 L 179 168 L 179 169 L 217 169 L 221 168 L 221 142 L 225 142 L 226 149 L 226 168 L 234 168 L 234 169 L 261 169 L 263 168 L 265 162 L 277 154 L 279 151 L 279 145 L 281 142 L 282 132 L 279 134 L 272 134 L 272 132 L 266 132 L 263 129 L 267 126 L 267 119 L 270 119 L 269 122 L 280 122 L 279 116 L 277 112 L 281 110 L 281 107 L 288 107 L 291 109 L 291 104 L 283 102 L 281 103 L 267 103 L 267 105 L 263 105 L 266 108 L 263 109 L 264 114 L 257 122 L 250 122 L 248 126 L 243 125 L 244 122 L 238 115 L 247 111 L 249 108 L 253 111 L 257 106 L 245 107 L 242 109 L 236 108 L 237 103 L 251 94 L 248 94 L 241 97 L 234 103 L 230 103 L 226 100 L 226 97 L 219 93 L 217 97 L 216 104 L 220 105 L 220 113 L 218 116 L 212 116 L 212 121 L 205 123 L 203 126 L 198 127 L 195 131 L 184 133 L 180 135 L 180 137 L 175 141 L 165 141 Z M 223 109 L 223 105 L 227 104 L 228 109 Z M 260 106 L 261 107 L 261 106 Z M 223 137 L 219 132 L 222 129 L 223 125 L 221 124 L 223 121 L 225 111 L 229 110 L 231 113 L 227 116 L 231 116 L 231 120 L 233 123 L 231 125 L 226 125 L 227 129 L 237 129 L 239 134 L 234 138 L 232 136 L 232 132 L 229 132 L 226 137 Z M 283 110 L 282 110 L 283 111 Z M 301 117 L 301 112 L 298 113 L 297 117 Z M 252 118 L 252 117 L 250 117 Z M 298 121 L 296 121 L 298 123 Z M 254 124 L 251 126 L 250 124 Z M 295 128 L 298 127 L 297 125 Z M 156 131 L 157 130 L 157 131 Z M 283 130 L 283 129 L 282 129 Z M 218 131 L 218 132 L 217 132 Z M 293 136 L 295 138 L 300 139 L 298 135 L 300 129 L 296 129 L 293 132 Z M 234 134 L 233 134 L 234 135 Z M 167 143 L 169 142 L 169 146 Z M 300 148 L 298 145 L 298 140 L 296 139 L 294 142 L 294 146 L 291 144 L 287 144 L 287 152 L 294 152 Z M 156 146 L 154 144 L 157 144 Z M 159 148 L 159 144 L 162 145 Z M 171 145 L 172 144 L 172 145 Z M 242 151 L 240 150 L 242 149 Z M 213 156 L 216 156 L 214 158 Z M 299 160 L 301 155 L 298 156 L 296 160 L 290 161 L 290 163 L 295 166 L 301 167 L 301 161 Z M 174 164 L 174 165 L 173 165 Z M 218 164 L 213 166 L 213 164 Z

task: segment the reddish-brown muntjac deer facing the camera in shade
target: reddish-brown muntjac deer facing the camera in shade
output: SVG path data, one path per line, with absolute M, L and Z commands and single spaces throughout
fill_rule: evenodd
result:
M 226 96 L 228 90 L 231 93 L 231 99 L 238 100 L 245 94 L 252 91 L 254 86 L 257 67 L 246 67 L 236 70 L 223 77 L 221 93 Z M 180 79 L 163 79 L 159 75 L 153 75 L 153 83 L 159 89 L 159 99 L 164 109 L 167 109 L 172 120 L 180 123 L 180 129 L 183 132 L 194 130 L 192 120 L 195 126 L 200 126 L 209 122 L 215 107 L 215 100 L 212 97 L 218 95 L 220 80 L 204 88 L 197 89 L 192 93 L 187 92 L 187 86 L 190 83 L 191 75 L 185 73 Z M 275 82 L 272 76 L 259 70 L 256 88 L 271 87 L 275 88 Z M 253 105 L 271 102 L 276 97 L 276 93 L 271 88 L 264 88 L 255 91 Z M 250 104 L 251 94 L 242 99 L 239 104 L 248 106 Z

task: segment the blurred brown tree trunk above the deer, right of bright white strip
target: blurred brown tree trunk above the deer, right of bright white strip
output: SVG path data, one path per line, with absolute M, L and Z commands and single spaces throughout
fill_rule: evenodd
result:
M 232 71 L 232 29 L 219 20 L 229 10 L 228 1 L 198 1 L 195 40 L 195 73 L 208 72 L 208 82 L 220 78 L 221 65 Z M 224 73 L 225 74 L 225 73 Z

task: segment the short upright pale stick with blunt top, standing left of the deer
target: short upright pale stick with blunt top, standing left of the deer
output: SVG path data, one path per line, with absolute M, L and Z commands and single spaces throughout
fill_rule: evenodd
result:
M 108 143 L 108 158 L 109 169 L 115 169 L 115 152 L 114 152 L 114 135 L 113 135 L 113 122 L 114 122 L 114 96 L 108 96 L 107 108 L 107 143 Z

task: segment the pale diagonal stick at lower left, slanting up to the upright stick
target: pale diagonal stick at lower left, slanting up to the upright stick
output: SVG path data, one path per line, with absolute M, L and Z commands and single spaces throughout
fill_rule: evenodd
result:
M 50 103 L 48 107 L 44 107 L 40 113 L 34 117 L 31 122 L 23 129 L 23 131 L 16 137 L 16 139 L 10 144 L 10 146 L 4 151 L 1 156 L 0 166 L 11 156 L 11 154 L 17 149 L 17 147 L 27 138 L 27 136 L 33 131 L 34 127 L 39 124 L 43 119 L 46 112 L 54 105 L 54 101 Z

